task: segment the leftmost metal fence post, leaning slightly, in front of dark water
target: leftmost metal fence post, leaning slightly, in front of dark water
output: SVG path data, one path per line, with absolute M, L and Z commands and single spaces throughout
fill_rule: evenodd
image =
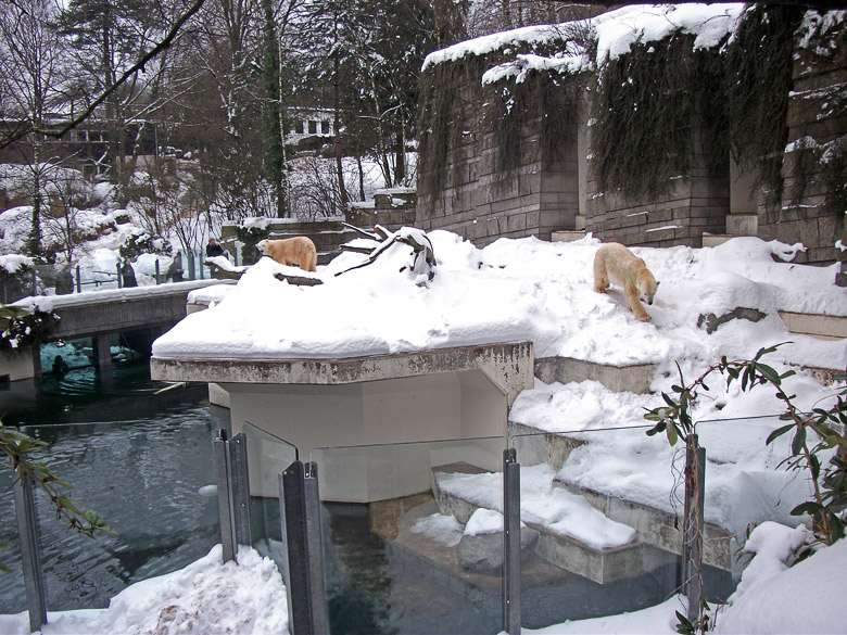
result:
M 17 471 L 14 474 L 14 498 L 26 586 L 26 608 L 29 612 L 29 631 L 35 632 L 47 624 L 47 595 L 41 576 L 41 558 L 38 553 L 38 523 L 33 499 L 33 480 Z

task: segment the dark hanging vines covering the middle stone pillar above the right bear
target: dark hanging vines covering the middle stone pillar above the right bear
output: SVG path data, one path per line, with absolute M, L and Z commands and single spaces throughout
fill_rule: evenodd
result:
M 623 190 L 655 199 L 691 170 L 693 130 L 704 150 L 722 155 L 725 119 L 720 94 L 721 60 L 713 49 L 692 50 L 691 35 L 639 42 L 606 63 L 594 91 L 592 152 L 601 191 Z

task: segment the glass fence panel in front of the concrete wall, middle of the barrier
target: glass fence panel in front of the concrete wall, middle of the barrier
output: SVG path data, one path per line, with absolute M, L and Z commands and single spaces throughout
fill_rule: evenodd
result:
M 331 633 L 503 631 L 505 447 L 496 437 L 312 453 Z

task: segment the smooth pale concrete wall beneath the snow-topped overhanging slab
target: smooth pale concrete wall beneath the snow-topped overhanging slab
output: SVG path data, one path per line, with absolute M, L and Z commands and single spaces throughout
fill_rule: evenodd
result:
M 425 492 L 430 468 L 447 460 L 451 447 L 479 445 L 453 440 L 505 443 L 507 397 L 481 370 L 343 385 L 222 388 L 229 394 L 233 433 L 249 421 L 295 446 L 301 460 L 318 463 L 321 496 L 330 500 L 366 503 Z M 443 441 L 451 443 L 430 443 Z M 478 455 L 486 453 L 455 455 L 479 462 L 485 459 Z M 493 453 L 485 467 L 497 461 Z M 288 466 L 260 470 L 258 465 L 251 458 L 251 491 L 273 495 L 276 472 Z

